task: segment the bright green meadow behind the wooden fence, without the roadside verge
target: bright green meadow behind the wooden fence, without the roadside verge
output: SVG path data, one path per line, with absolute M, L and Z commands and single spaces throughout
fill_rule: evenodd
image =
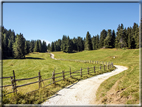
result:
M 5 59 L 3 60 L 3 76 L 12 76 L 12 70 L 15 70 L 16 79 L 30 78 L 38 76 L 39 70 L 41 71 L 42 79 L 51 78 L 52 72 L 55 69 L 55 73 L 62 72 L 62 70 L 69 71 L 71 67 L 72 71 L 80 70 L 81 67 L 87 68 L 93 67 L 91 63 L 78 63 L 69 61 L 53 60 L 48 53 L 30 53 L 26 56 L 27 59 Z M 99 65 L 95 65 L 99 66 Z M 60 78 L 59 78 L 60 79 Z M 38 78 L 32 80 L 25 80 L 17 82 L 17 85 L 25 84 L 29 82 L 37 81 Z M 49 84 L 50 81 L 45 81 L 44 84 Z M 4 79 L 3 85 L 11 84 L 10 79 Z M 38 89 L 38 84 L 32 84 L 18 88 L 20 92 L 29 92 Z M 7 90 L 12 91 L 11 88 Z

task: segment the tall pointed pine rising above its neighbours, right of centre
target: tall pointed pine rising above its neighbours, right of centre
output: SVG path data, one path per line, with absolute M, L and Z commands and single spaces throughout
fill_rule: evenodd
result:
M 89 32 L 87 32 L 86 34 L 85 50 L 92 50 L 91 35 L 89 34 Z

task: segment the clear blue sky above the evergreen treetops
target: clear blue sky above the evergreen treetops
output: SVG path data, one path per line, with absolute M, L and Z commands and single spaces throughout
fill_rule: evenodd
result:
M 139 3 L 3 3 L 3 26 L 26 40 L 52 42 L 139 25 L 139 11 Z

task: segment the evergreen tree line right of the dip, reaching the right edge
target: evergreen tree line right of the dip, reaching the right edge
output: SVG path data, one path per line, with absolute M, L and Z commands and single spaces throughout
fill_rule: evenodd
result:
M 139 48 L 139 27 L 134 23 L 133 27 L 125 27 L 119 24 L 117 32 L 103 29 L 100 35 L 91 37 L 89 31 L 86 38 L 73 38 L 63 35 L 62 39 L 58 39 L 48 44 L 47 49 L 53 51 L 63 51 L 66 53 L 78 52 L 83 50 L 97 50 L 100 48 Z

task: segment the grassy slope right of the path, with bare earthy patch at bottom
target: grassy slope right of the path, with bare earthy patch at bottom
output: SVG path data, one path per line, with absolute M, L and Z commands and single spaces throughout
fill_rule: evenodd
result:
M 113 76 L 101 84 L 97 92 L 97 101 L 104 104 L 139 103 L 139 49 L 99 49 L 69 54 L 63 52 L 53 53 L 55 58 L 98 60 L 127 66 L 127 71 Z M 116 58 L 113 58 L 114 56 Z M 112 87 L 114 88 L 112 93 L 114 95 L 109 95 Z

